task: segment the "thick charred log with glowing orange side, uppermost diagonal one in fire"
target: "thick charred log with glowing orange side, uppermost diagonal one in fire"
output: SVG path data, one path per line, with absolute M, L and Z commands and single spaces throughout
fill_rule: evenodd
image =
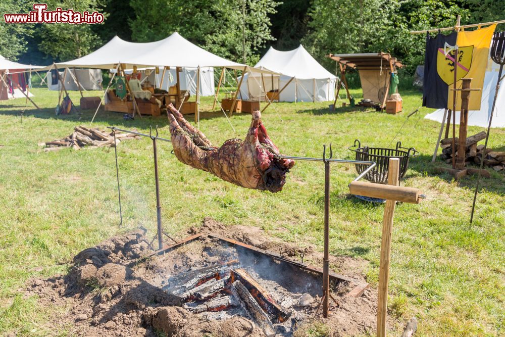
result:
M 239 280 L 244 284 L 252 297 L 256 299 L 260 307 L 263 308 L 263 310 L 265 310 L 265 312 L 267 312 L 270 316 L 273 323 L 284 322 L 291 316 L 292 311 L 277 303 L 277 301 L 270 296 L 267 290 L 256 282 L 256 280 L 245 270 L 237 268 L 231 271 L 230 281 L 234 283 L 236 280 Z

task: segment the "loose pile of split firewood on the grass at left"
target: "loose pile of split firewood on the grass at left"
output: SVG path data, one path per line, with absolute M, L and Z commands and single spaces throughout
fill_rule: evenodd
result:
M 46 147 L 45 152 L 57 151 L 64 148 L 72 148 L 80 150 L 86 148 L 100 148 L 100 147 L 115 147 L 122 140 L 138 139 L 140 136 L 133 133 L 124 133 L 116 131 L 116 141 L 114 142 L 114 131 L 108 132 L 106 130 L 99 130 L 98 128 L 87 128 L 85 126 L 74 127 L 74 132 L 63 138 L 53 141 L 46 141 L 39 143 L 39 146 Z

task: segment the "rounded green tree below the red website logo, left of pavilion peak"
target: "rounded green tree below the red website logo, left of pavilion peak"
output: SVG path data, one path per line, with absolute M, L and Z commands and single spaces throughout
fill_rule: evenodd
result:
M 98 0 L 81 0 L 79 2 L 63 0 L 62 2 L 50 1 L 47 3 L 48 9 L 57 7 L 73 9 L 76 12 L 98 11 L 107 17 L 107 13 L 102 12 Z M 67 61 L 82 57 L 102 44 L 102 39 L 94 32 L 94 29 L 96 28 L 90 24 L 42 24 L 38 29 L 39 49 L 52 56 L 55 61 Z

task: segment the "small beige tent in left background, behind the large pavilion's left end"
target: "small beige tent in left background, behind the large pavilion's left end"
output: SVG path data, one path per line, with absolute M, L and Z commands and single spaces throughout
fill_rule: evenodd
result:
M 65 75 L 65 78 L 63 76 Z M 67 90 L 79 90 L 79 85 L 83 90 L 103 90 L 102 70 L 100 69 L 68 69 L 65 73 L 60 71 L 65 88 Z M 47 88 L 49 90 L 60 90 L 61 83 L 58 78 L 53 81 L 51 71 L 47 72 Z

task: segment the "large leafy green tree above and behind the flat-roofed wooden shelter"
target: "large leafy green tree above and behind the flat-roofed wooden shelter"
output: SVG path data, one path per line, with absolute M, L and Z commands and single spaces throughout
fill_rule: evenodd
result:
M 411 30 L 453 26 L 469 11 L 455 0 L 315 0 L 309 33 L 302 39 L 319 61 L 332 69 L 329 53 L 391 53 L 413 73 L 424 60 L 425 37 Z

